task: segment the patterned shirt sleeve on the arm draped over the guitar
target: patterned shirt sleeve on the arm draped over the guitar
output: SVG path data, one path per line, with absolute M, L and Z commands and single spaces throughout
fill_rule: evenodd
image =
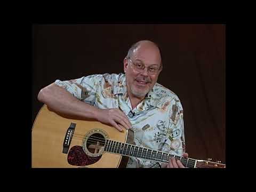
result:
M 94 105 L 102 75 L 90 75 L 68 81 L 57 79 L 54 83 L 67 90 L 75 98 Z

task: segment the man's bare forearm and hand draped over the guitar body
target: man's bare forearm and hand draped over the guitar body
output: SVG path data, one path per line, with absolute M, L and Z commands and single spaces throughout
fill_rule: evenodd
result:
M 72 115 L 82 119 L 95 119 L 101 123 L 112 125 L 119 131 L 131 127 L 131 123 L 126 115 L 119 109 L 99 109 L 82 102 L 62 87 L 52 83 L 44 87 L 38 93 L 38 100 L 45 103 L 51 110 L 63 114 Z

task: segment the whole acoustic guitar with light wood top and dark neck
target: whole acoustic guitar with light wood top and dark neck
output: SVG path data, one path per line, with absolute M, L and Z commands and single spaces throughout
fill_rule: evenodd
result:
M 133 145 L 133 132 L 119 132 L 97 121 L 60 116 L 44 105 L 32 127 L 32 167 L 126 167 L 129 157 L 169 162 L 179 159 L 191 168 L 226 168 L 225 164 L 183 158 Z

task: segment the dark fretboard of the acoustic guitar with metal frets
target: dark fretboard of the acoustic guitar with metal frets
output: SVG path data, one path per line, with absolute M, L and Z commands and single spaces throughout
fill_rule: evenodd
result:
M 138 147 L 129 143 L 123 143 L 113 140 L 106 140 L 104 150 L 109 153 L 149 159 L 156 162 L 164 163 L 168 163 L 169 159 L 174 157 L 176 159 L 179 159 L 181 163 L 186 167 L 194 168 L 196 166 L 196 159 L 184 158 L 172 154 L 163 153 L 162 151 L 152 150 L 145 147 Z

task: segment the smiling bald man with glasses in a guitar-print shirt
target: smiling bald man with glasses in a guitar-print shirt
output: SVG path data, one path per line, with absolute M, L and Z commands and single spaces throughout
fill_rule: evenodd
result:
M 119 131 L 132 129 L 135 145 L 187 158 L 182 106 L 177 95 L 156 83 L 161 70 L 158 46 L 140 41 L 124 59 L 125 74 L 57 80 L 39 92 L 38 100 L 63 115 L 96 119 Z M 127 167 L 154 165 L 153 161 L 130 157 Z M 184 166 L 171 158 L 161 167 Z

